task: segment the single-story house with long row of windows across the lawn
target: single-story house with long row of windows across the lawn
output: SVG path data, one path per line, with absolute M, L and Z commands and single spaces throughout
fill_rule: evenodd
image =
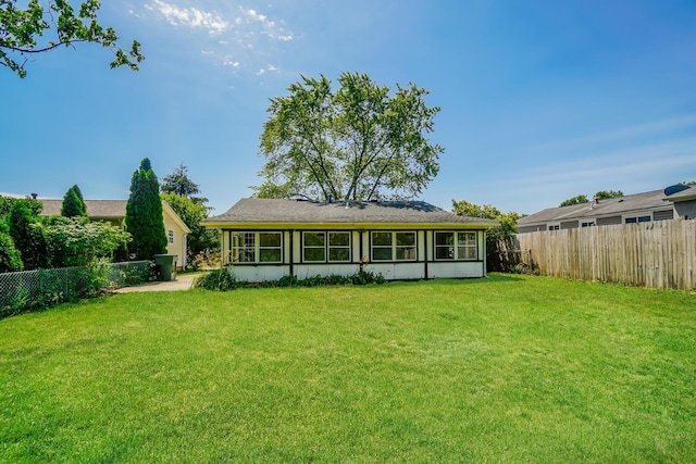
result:
M 483 277 L 484 234 L 496 223 L 421 201 L 239 200 L 202 222 L 221 231 L 226 264 L 246 281 L 350 275 Z

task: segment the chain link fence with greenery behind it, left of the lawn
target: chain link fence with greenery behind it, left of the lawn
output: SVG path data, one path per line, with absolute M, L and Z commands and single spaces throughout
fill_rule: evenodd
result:
M 120 288 L 147 280 L 150 261 L 105 264 L 103 279 L 95 279 L 89 267 L 59 267 L 0 274 L 0 317 L 25 306 L 51 306 L 90 291 Z M 94 286 L 101 288 L 94 288 Z

